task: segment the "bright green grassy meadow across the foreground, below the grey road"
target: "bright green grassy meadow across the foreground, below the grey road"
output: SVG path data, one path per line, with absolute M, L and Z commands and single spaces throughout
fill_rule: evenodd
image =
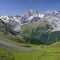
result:
M 21 44 L 24 46 L 26 44 Z M 29 44 L 27 44 L 29 45 Z M 0 53 L 3 54 L 10 53 L 8 57 L 13 57 L 14 60 L 60 60 L 60 48 L 53 46 L 45 45 L 29 45 L 31 48 L 34 48 L 34 51 L 10 51 L 10 50 L 0 50 Z M 4 54 L 3 54 L 4 55 Z M 7 59 L 9 60 L 9 59 Z

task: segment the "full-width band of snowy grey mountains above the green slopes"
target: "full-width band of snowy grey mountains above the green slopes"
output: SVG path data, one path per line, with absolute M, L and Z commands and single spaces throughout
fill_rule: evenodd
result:
M 46 20 L 53 26 L 52 31 L 60 30 L 60 11 L 46 11 L 40 14 L 38 11 L 29 10 L 23 16 L 0 16 L 5 23 L 11 24 L 14 31 L 20 31 L 20 26 L 40 20 Z

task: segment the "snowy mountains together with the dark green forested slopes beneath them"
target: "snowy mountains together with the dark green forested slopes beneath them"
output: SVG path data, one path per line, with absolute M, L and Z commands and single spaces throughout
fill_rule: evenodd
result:
M 0 16 L 0 31 L 19 33 L 26 43 L 51 44 L 60 40 L 60 11 L 29 10 L 23 16 Z

